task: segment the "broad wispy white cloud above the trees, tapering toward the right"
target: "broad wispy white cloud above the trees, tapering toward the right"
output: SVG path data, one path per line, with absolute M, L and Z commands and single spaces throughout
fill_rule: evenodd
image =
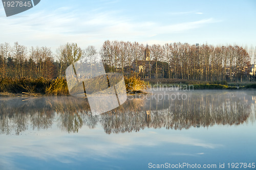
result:
M 77 13 L 72 8 L 62 7 L 53 12 L 38 11 L 27 17 L 0 17 L 0 43 L 12 44 L 18 41 L 28 47 L 49 46 L 55 52 L 61 44 L 77 42 L 82 48 L 94 45 L 99 50 L 102 43 L 108 39 L 158 42 L 162 41 L 158 37 L 160 35 L 183 33 L 214 22 L 216 20 L 213 18 L 166 24 L 156 21 L 138 22 L 129 16 L 121 15 L 118 10 Z

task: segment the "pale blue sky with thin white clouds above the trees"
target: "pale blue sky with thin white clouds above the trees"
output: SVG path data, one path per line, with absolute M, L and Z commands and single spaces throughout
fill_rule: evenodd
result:
M 105 40 L 143 44 L 256 46 L 256 1 L 41 0 L 6 17 L 0 4 L 0 43 L 56 48 L 76 42 L 100 50 Z

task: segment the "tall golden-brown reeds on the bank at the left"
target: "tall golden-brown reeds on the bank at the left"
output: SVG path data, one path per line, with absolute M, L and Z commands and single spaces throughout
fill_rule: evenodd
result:
M 97 82 L 97 81 L 96 81 Z M 124 77 L 126 92 L 129 94 L 143 93 L 147 84 L 140 78 Z M 95 88 L 97 87 L 97 83 Z M 0 78 L 0 96 L 40 96 L 40 95 L 69 95 L 67 80 L 57 78 L 53 80 L 39 79 L 10 79 Z

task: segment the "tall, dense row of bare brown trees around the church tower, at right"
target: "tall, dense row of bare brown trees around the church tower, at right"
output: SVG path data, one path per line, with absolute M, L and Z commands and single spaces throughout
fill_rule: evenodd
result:
M 144 44 L 138 42 L 105 41 L 100 50 L 104 65 L 111 71 L 140 75 L 139 61 L 145 60 Z M 187 79 L 201 81 L 242 81 L 250 72 L 251 57 L 242 46 L 166 43 L 148 46 L 149 78 Z M 252 51 L 251 51 L 252 52 Z M 256 57 L 256 53 L 252 56 Z M 254 57 L 254 58 L 255 58 Z M 255 59 L 253 59 L 254 61 Z M 145 62 L 142 62 L 145 66 Z M 160 76 L 161 75 L 161 76 Z

